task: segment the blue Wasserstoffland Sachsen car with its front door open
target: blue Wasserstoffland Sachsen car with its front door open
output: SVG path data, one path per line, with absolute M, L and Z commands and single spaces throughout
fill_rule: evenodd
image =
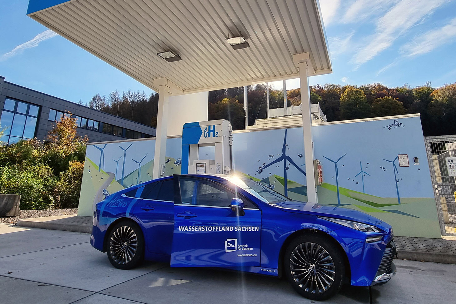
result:
M 233 175 L 173 175 L 107 195 L 91 245 L 116 268 L 144 259 L 285 276 L 322 300 L 342 283 L 372 286 L 396 273 L 391 226 L 363 212 L 293 201 Z

